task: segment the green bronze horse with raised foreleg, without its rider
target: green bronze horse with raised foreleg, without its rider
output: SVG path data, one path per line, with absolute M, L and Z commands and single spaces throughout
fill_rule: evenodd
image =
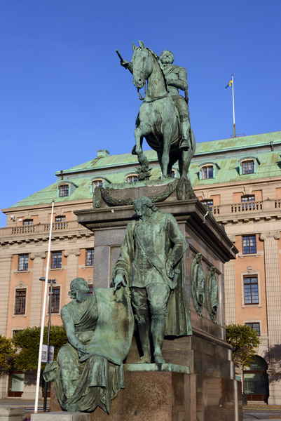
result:
M 131 62 L 121 60 L 121 65 L 130 69 L 133 74 L 133 83 L 138 91 L 147 81 L 144 100 L 139 95 L 143 102 L 136 120 L 136 144 L 132 154 L 137 154 L 142 168 L 148 167 L 149 162 L 142 150 L 142 141 L 146 138 L 146 142 L 158 154 L 163 178 L 172 176 L 172 166 L 176 161 L 179 161 L 180 177 L 187 178 L 189 164 L 196 149 L 193 131 L 190 129 L 189 149 L 180 149 L 182 134 L 179 113 L 169 95 L 163 65 L 158 55 L 146 48 L 142 41 L 139 41 L 139 45 L 132 46 L 134 54 Z

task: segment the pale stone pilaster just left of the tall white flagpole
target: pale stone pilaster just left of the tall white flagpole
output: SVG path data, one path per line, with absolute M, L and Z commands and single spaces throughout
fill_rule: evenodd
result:
M 33 260 L 32 296 L 29 316 L 29 326 L 32 328 L 33 326 L 41 325 L 43 282 L 39 281 L 39 279 L 43 276 L 43 262 L 46 258 L 46 253 L 45 251 L 40 253 L 31 253 L 30 258 Z

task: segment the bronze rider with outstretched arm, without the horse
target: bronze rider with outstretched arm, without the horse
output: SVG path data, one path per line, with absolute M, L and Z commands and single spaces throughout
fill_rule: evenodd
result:
M 187 151 L 191 148 L 191 124 L 189 120 L 189 105 L 187 96 L 187 72 L 184 67 L 173 65 L 174 55 L 171 51 L 165 50 L 160 54 L 165 78 L 168 85 L 168 93 L 172 102 L 179 112 L 181 125 L 181 141 L 179 149 Z M 132 62 L 121 60 L 121 66 L 129 69 L 132 73 Z M 179 89 L 185 91 L 185 98 L 179 95 Z

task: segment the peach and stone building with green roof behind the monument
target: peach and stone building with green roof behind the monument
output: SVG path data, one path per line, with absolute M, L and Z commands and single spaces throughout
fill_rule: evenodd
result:
M 250 370 L 243 373 L 245 393 L 252 401 L 270 404 L 281 404 L 280 153 L 281 131 L 215 140 L 197 145 L 190 168 L 198 199 L 212 208 L 239 250 L 236 260 L 225 265 L 226 323 L 249 323 L 261 339 Z M 151 179 L 159 178 L 156 153 L 146 156 Z M 56 279 L 52 324 L 60 324 L 71 280 L 82 276 L 95 286 L 94 237 L 78 225 L 74 210 L 92 206 L 95 187 L 137 183 L 136 165 L 131 154 L 111 156 L 102 149 L 95 159 L 57 172 L 52 185 L 3 210 L 7 224 L 0 229 L 1 335 L 11 338 L 17 330 L 41 324 L 39 278 L 46 271 L 52 199 L 49 278 Z M 176 167 L 174 176 L 179 176 Z M 33 399 L 33 380 L 32 374 L 11 373 L 0 380 L 0 397 Z

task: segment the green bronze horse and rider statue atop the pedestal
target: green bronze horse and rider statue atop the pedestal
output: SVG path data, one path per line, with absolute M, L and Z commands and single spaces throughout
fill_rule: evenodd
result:
M 149 161 L 142 150 L 142 141 L 146 138 L 158 154 L 163 178 L 171 175 L 176 161 L 179 161 L 181 178 L 186 178 L 196 149 L 189 119 L 186 69 L 172 64 L 174 55 L 170 51 L 163 51 L 159 58 L 142 41 L 139 45 L 136 48 L 133 44 L 134 54 L 130 62 L 123 60 L 118 53 L 121 65 L 133 74 L 138 92 L 147 81 L 146 97 L 139 94 L 143 102 L 136 121 L 136 145 L 132 149 L 141 166 L 139 177 L 149 177 Z M 185 92 L 185 98 L 179 95 L 179 89 Z

